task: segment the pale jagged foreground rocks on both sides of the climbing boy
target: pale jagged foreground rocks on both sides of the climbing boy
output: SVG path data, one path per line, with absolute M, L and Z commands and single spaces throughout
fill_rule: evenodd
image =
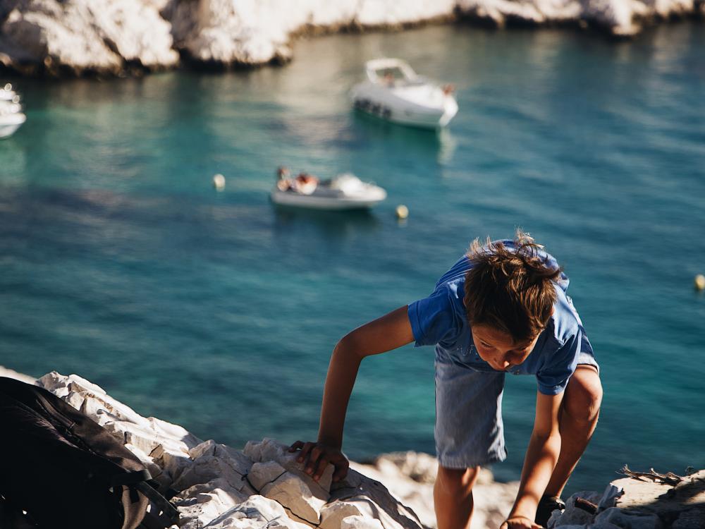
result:
M 236 450 L 202 441 L 178 425 L 145 418 L 77 375 L 51 372 L 35 380 L 0 367 L 0 376 L 52 391 L 114 434 L 145 463 L 154 480 L 175 494 L 183 529 L 427 529 L 435 527 L 435 459 L 384 454 L 351 463 L 348 477 L 320 482 L 302 472 L 286 446 L 272 439 Z M 628 469 L 627 469 L 628 470 Z M 681 478 L 631 473 L 603 493 L 573 494 L 549 529 L 699 529 L 705 527 L 705 470 Z M 498 483 L 483 471 L 474 487 L 472 529 L 498 528 L 517 482 Z M 177 529 L 176 525 L 172 529 Z

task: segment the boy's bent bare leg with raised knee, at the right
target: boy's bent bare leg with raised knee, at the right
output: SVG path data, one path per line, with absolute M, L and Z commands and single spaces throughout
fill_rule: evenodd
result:
M 546 495 L 560 497 L 563 487 L 587 448 L 597 425 L 602 401 L 600 375 L 591 365 L 578 365 L 570 377 L 560 413 L 560 455 Z

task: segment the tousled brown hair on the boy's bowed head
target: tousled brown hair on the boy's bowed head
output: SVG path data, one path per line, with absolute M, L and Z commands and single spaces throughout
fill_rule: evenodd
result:
M 553 281 L 560 267 L 546 265 L 541 245 L 517 229 L 514 248 L 501 242 L 472 241 L 467 257 L 473 266 L 465 276 L 465 310 L 470 325 L 487 325 L 512 336 L 533 340 L 548 323 L 556 302 Z

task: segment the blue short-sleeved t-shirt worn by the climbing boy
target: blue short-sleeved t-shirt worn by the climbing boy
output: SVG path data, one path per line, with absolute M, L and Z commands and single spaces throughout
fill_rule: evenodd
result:
M 502 242 L 513 248 L 513 241 Z M 549 267 L 558 267 L 553 256 L 545 252 L 539 255 Z M 445 361 L 475 371 L 496 372 L 479 357 L 465 315 L 465 274 L 471 267 L 467 256 L 456 262 L 441 276 L 428 298 L 409 305 L 409 321 L 417 347 L 435 345 L 436 355 Z M 565 295 L 568 283 L 568 276 L 561 272 L 555 282 L 556 303 L 546 329 L 539 335 L 527 359 L 508 369 L 513 375 L 536 375 L 539 391 L 546 395 L 563 391 L 570 375 L 575 372 L 580 353 L 592 353 L 580 316 Z

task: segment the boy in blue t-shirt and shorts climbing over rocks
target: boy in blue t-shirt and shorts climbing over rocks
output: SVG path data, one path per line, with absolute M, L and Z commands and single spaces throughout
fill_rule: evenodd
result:
M 556 260 L 522 231 L 514 241 L 470 252 L 441 276 L 431 296 L 353 330 L 333 351 L 316 443 L 295 442 L 314 479 L 335 466 L 360 361 L 415 341 L 436 346 L 434 505 L 439 529 L 464 529 L 480 466 L 506 457 L 501 402 L 506 372 L 536 375 L 534 429 L 515 504 L 501 529 L 536 529 L 553 509 L 594 432 L 602 388 L 582 322 Z M 540 524 L 540 525 L 539 525 Z

